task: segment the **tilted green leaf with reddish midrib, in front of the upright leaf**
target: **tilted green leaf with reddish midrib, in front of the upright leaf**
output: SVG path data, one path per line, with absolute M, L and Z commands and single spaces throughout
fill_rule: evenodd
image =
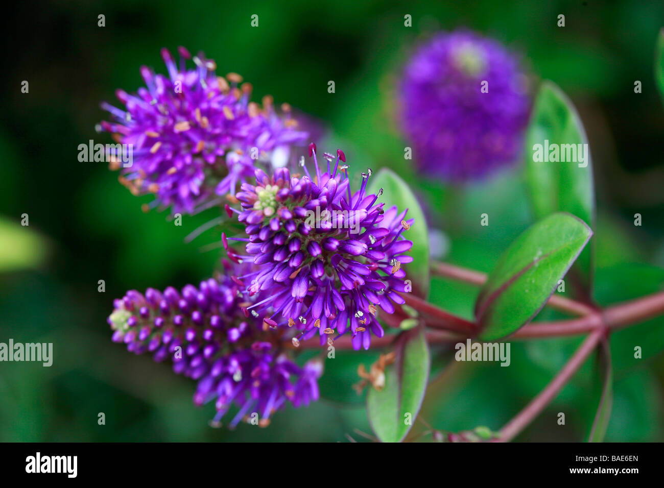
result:
M 517 237 L 475 302 L 479 338 L 499 339 L 531 321 L 591 236 L 592 230 L 582 220 L 559 212 Z

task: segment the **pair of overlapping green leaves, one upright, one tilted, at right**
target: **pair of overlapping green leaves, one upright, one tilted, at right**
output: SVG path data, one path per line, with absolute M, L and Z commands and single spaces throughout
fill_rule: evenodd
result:
M 592 295 L 594 258 L 586 244 L 595 206 L 588 139 L 572 102 L 550 81 L 540 86 L 525 139 L 527 186 L 539 222 L 503 253 L 477 297 L 483 341 L 501 339 L 533 319 L 568 270 L 566 293 L 584 300 Z M 542 157 L 549 148 L 552 157 Z

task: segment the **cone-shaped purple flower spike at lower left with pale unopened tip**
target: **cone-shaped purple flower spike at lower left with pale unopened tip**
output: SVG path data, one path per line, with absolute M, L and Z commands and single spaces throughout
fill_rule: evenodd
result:
M 197 380 L 194 402 L 215 400 L 215 422 L 235 404 L 231 427 L 253 412 L 266 426 L 287 401 L 297 407 L 317 400 L 321 364 L 293 363 L 286 353 L 290 339 L 248 312 L 251 300 L 228 263 L 225 268 L 199 287 L 127 291 L 108 322 L 115 342 L 136 354 L 152 353 L 155 361 L 170 357 L 175 372 Z

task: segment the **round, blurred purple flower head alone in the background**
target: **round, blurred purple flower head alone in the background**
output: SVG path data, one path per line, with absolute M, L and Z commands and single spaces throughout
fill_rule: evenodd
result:
M 514 162 L 530 107 L 525 80 L 513 54 L 473 33 L 421 46 L 400 82 L 400 125 L 420 169 L 463 181 Z

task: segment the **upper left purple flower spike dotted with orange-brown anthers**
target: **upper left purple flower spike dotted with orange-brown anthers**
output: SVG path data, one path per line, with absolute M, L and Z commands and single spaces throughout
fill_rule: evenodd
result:
M 216 76 L 216 64 L 202 53 L 193 58 L 195 68 L 187 69 L 191 56 L 183 47 L 179 53 L 177 66 L 171 53 L 161 50 L 168 76 L 143 66 L 147 88 L 135 95 L 117 90 L 125 110 L 102 103 L 114 122 L 100 128 L 132 145 L 133 164 L 123 169 L 122 183 L 136 195 L 154 193 L 152 206 L 193 213 L 215 193 L 234 193 L 239 181 L 252 177 L 256 161 L 283 165 L 291 145 L 304 143 L 307 134 L 295 129 L 287 104 L 285 117 L 269 96 L 261 108 L 249 101 L 250 84 L 238 88 L 240 75 Z

